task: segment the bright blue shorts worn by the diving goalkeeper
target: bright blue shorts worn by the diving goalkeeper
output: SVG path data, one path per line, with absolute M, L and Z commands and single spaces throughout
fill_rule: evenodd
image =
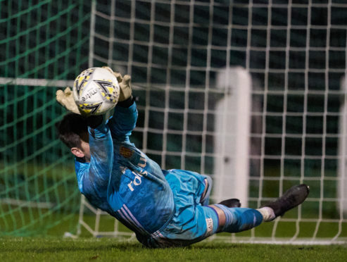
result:
M 208 206 L 212 180 L 187 170 L 163 171 L 175 201 L 175 213 L 171 220 L 151 237 L 137 236 L 147 247 L 177 247 L 199 242 L 217 232 L 218 217 Z M 203 192 L 208 189 L 206 195 Z

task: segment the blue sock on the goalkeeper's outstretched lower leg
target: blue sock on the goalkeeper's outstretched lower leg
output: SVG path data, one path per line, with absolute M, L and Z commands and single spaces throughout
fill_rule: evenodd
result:
M 221 204 L 215 204 L 225 213 L 225 225 L 222 232 L 236 233 L 249 230 L 263 222 L 261 213 L 252 208 L 228 208 Z

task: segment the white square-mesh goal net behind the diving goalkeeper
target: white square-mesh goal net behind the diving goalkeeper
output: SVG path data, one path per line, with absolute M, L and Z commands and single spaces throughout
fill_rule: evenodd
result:
M 346 13 L 333 0 L 95 1 L 89 66 L 132 75 L 132 142 L 163 169 L 210 175 L 212 202 L 257 208 L 310 185 L 283 218 L 217 238 L 346 243 Z M 82 199 L 80 232 L 131 235 L 110 219 Z

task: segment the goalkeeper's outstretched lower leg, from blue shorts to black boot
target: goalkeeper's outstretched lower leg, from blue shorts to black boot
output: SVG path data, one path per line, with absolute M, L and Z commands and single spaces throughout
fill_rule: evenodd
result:
M 178 195 L 177 197 L 182 196 Z M 262 208 L 229 208 L 224 204 L 188 205 L 177 201 L 170 223 L 151 236 L 137 236 L 147 247 L 177 247 L 199 242 L 217 232 L 241 232 L 270 221 L 301 204 L 308 196 L 308 187 L 291 187 L 283 196 Z M 182 200 L 186 196 L 182 196 Z M 268 212 L 270 211 L 270 212 Z M 269 213 L 272 213 L 272 215 Z

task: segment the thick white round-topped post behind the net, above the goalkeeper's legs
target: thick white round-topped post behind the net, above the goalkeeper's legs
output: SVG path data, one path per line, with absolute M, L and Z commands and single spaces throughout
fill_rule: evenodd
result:
M 236 198 L 248 206 L 251 75 L 244 68 L 217 74 L 216 88 L 225 95 L 215 106 L 213 198 Z

